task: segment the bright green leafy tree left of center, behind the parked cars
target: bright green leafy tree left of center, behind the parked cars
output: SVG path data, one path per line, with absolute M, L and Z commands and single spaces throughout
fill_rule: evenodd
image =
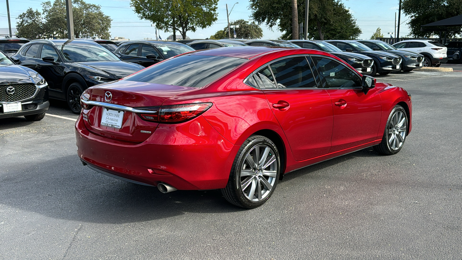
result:
M 130 5 L 140 19 L 160 30 L 179 30 L 183 39 L 188 31 L 212 25 L 218 16 L 218 0 L 131 0 Z

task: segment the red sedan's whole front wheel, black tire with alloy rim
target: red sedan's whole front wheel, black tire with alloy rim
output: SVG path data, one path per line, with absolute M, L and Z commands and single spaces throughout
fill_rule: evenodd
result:
M 395 115 L 402 115 L 406 119 L 402 123 L 401 126 L 399 124 L 396 125 L 397 120 L 395 120 Z M 377 153 L 380 153 L 383 155 L 394 155 L 398 153 L 399 151 L 401 151 L 401 148 L 404 146 L 404 142 L 406 141 L 407 123 L 408 123 L 408 118 L 407 118 L 406 111 L 401 105 L 395 105 L 395 107 L 390 112 L 390 115 L 388 117 L 387 125 L 385 127 L 385 131 L 383 132 L 382 142 L 374 146 L 373 147 L 374 150 Z M 401 130 L 396 130 L 398 129 L 397 127 L 399 127 L 399 129 L 404 131 L 403 136 L 399 133 L 399 132 L 402 132 Z M 401 138 L 399 138 L 398 135 L 401 136 Z M 393 136 L 395 136 L 395 138 L 393 138 Z M 392 142 L 392 139 L 393 139 L 393 144 L 390 144 L 390 142 Z M 400 139 L 402 139 L 402 142 L 400 141 Z M 401 142 L 401 144 L 399 142 Z

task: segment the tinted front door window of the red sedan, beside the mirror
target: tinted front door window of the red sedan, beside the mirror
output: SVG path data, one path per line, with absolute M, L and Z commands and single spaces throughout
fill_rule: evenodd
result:
M 360 87 L 361 78 L 340 62 L 318 56 L 312 56 L 316 61 L 316 69 L 323 79 L 322 87 L 344 88 Z

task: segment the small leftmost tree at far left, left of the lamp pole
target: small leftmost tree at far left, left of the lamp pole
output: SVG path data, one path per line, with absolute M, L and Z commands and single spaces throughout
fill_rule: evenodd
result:
M 16 23 L 16 34 L 20 37 L 28 39 L 41 39 L 43 35 L 43 19 L 42 13 L 38 10 L 27 9 L 18 15 Z

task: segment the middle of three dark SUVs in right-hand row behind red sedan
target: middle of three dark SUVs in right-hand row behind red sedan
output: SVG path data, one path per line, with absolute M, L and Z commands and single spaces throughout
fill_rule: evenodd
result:
M 369 56 L 374 60 L 374 65 L 372 65 L 371 76 L 375 76 L 377 73 L 381 75 L 387 75 L 390 72 L 400 71 L 401 70 L 401 58 L 395 54 L 372 50 L 363 43 L 352 40 L 328 40 L 326 41 L 335 45 L 343 51 L 356 52 Z

